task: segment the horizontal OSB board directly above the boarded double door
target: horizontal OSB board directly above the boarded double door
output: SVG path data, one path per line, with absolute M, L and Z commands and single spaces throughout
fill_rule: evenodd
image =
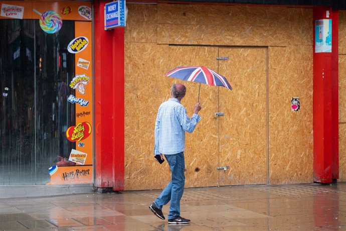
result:
M 289 33 L 289 28 L 261 28 L 246 25 L 158 24 L 157 43 L 237 46 L 309 45 L 312 30 Z M 294 30 L 294 29 L 292 29 Z M 216 36 L 217 35 L 217 36 Z

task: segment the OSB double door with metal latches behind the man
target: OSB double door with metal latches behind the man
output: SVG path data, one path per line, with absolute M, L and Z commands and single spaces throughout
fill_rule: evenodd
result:
M 234 88 L 201 85 L 202 121 L 186 138 L 186 187 L 267 182 L 266 60 L 265 48 L 169 47 L 171 69 L 206 66 L 225 75 Z M 182 103 L 191 116 L 199 84 L 183 83 L 188 91 Z M 224 116 L 215 118 L 216 112 Z

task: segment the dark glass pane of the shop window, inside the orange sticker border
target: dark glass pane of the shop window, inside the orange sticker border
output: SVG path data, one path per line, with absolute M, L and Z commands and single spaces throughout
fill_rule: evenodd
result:
M 74 30 L 73 21 L 47 34 L 39 20 L 0 20 L 0 185 L 46 184 L 75 148 L 65 137 L 75 124 Z

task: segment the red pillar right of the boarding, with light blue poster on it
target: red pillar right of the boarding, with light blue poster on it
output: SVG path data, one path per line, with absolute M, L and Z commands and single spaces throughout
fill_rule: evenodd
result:
M 332 24 L 331 52 L 318 53 L 316 20 L 323 19 L 331 20 Z M 338 178 L 338 12 L 328 7 L 315 7 L 313 27 L 314 181 L 330 183 Z

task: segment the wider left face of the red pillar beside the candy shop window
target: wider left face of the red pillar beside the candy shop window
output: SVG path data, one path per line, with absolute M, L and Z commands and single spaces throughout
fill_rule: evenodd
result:
M 94 1 L 95 186 L 113 187 L 113 33 L 104 30 L 105 1 Z

